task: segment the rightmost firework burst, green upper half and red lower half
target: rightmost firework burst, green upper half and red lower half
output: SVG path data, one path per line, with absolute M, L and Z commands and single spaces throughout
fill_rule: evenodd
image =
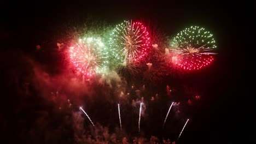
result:
M 213 61 L 215 40 L 205 28 L 185 28 L 171 41 L 172 62 L 185 70 L 201 69 Z

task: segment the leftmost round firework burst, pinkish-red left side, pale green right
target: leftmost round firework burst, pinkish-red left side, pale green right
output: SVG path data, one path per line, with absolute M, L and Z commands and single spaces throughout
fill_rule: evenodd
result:
M 85 76 L 93 76 L 106 70 L 107 54 L 106 46 L 96 38 L 79 39 L 79 42 L 69 49 L 75 69 Z

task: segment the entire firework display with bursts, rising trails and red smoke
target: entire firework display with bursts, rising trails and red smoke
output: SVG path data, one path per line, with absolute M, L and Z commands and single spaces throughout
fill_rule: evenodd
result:
M 149 143 L 153 139 L 160 143 L 158 137 L 171 139 L 163 143 L 178 141 L 189 121 L 186 118 L 184 124 L 181 119 L 198 110 L 193 105 L 201 102 L 201 95 L 190 90 L 190 84 L 179 82 L 176 73 L 197 72 L 213 61 L 217 54 L 213 35 L 192 26 L 178 33 L 168 46 L 164 34 L 160 37 L 154 28 L 138 21 L 124 21 L 115 28 L 96 26 L 75 33 L 66 43 L 57 43 L 56 53 L 67 59 L 61 67 L 66 71 L 52 76 L 34 69 L 37 91 L 42 95 L 57 91 L 45 97 L 45 103 L 51 101 L 54 106 L 49 107 L 65 118 L 53 122 L 64 119 L 60 131 L 70 127 L 76 143 L 144 143 L 143 137 L 149 135 Z M 27 85 L 26 94 L 30 91 Z M 85 111 L 95 123 L 81 105 L 86 105 Z M 49 119 L 48 112 L 42 113 L 37 123 Z

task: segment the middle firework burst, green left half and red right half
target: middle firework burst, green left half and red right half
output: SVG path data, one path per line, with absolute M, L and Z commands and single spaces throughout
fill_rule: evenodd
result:
M 141 22 L 124 21 L 110 34 L 109 44 L 115 60 L 129 64 L 146 55 L 150 46 L 149 33 Z

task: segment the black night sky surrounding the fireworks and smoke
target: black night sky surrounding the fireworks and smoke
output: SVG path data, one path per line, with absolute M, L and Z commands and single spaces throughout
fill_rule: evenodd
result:
M 79 22 L 91 17 L 112 26 L 130 19 L 150 22 L 166 35 L 175 35 L 183 28 L 191 25 L 202 26 L 212 32 L 217 41 L 218 55 L 209 67 L 183 77 L 165 79 L 159 82 L 160 84 L 154 87 L 152 91 L 159 93 L 165 91 L 166 83 L 171 81 L 170 83 L 174 83 L 173 87 L 181 86 L 183 85 L 181 83 L 184 83 L 184 85 L 198 88 L 198 92 L 203 95 L 202 99 L 191 109 L 189 107 L 185 108 L 189 111 L 189 114 L 183 116 L 182 121 L 178 124 L 184 124 L 186 118 L 190 118 L 191 121 L 183 132 L 181 140 L 177 143 L 256 142 L 253 139 L 253 136 L 255 137 L 255 122 L 252 122 L 252 118 L 248 118 L 254 116 L 252 112 L 253 105 L 250 105 L 251 100 L 249 98 L 253 97 L 253 94 L 248 95 L 246 90 L 251 89 L 247 88 L 247 85 L 251 85 L 246 78 L 251 73 L 248 68 L 254 66 L 250 66 L 246 55 L 252 49 L 245 42 L 247 40 L 246 28 L 251 25 L 246 20 L 246 9 L 248 7 L 244 4 L 217 4 L 214 2 L 183 4 L 174 4 L 174 2 L 170 2 L 170 4 L 126 2 L 129 4 L 120 2 L 92 4 L 91 2 L 73 1 L 25 3 L 22 1 L 7 4 L 6 8 L 2 9 L 0 38 L 2 43 L 1 53 L 3 53 L 1 71 L 3 73 L 4 90 L 1 94 L 2 112 L 0 122 L 2 122 L 0 127 L 4 135 L 1 137 L 9 141 L 7 143 L 72 143 L 71 141 L 74 138 L 66 140 L 66 137 L 74 137 L 73 129 L 69 130 L 68 126 L 65 125 L 68 132 L 63 132 L 65 134 L 61 136 L 55 131 L 59 128 L 56 126 L 58 125 L 58 118 L 56 117 L 63 117 L 60 113 L 49 116 L 49 118 L 53 117 L 55 119 L 49 121 L 50 126 L 48 128 L 51 132 L 42 130 L 42 133 L 52 133 L 51 136 L 53 137 L 56 134 L 56 137 L 62 137 L 63 141 L 45 142 L 42 133 L 42 136 L 32 140 L 32 136 L 26 134 L 31 133 L 33 127 L 37 127 L 32 123 L 37 121 L 39 116 L 38 113 L 33 112 L 33 109 L 35 111 L 49 111 L 53 110 L 54 107 L 47 100 L 38 96 L 37 90 L 31 92 L 36 98 L 21 98 L 24 95 L 22 94 L 22 91 L 24 91 L 22 87 L 25 82 L 32 80 L 30 77 L 32 75 L 31 71 L 28 69 L 33 69 L 34 65 L 42 66 L 46 69 L 45 71 L 48 71 L 49 75 L 57 73 L 49 69 L 55 67 L 55 65 L 61 65 L 61 58 L 56 58 L 54 56 L 56 53 L 51 53 L 50 49 L 56 48 L 56 43 L 59 43 L 60 37 L 65 37 L 65 35 L 62 35 L 65 34 L 65 32 L 62 32 L 65 31 L 63 26 L 72 27 L 75 25 L 74 23 L 80 25 Z M 65 43 L 65 41 L 61 43 L 63 42 Z M 45 52 L 42 55 L 35 52 L 36 45 L 45 47 Z M 48 55 L 48 52 L 51 54 Z M 98 102 L 100 105 L 107 105 L 107 103 L 104 103 L 104 101 Z M 169 105 L 170 103 L 165 104 Z M 97 106 L 94 105 L 94 107 L 88 109 L 93 108 L 97 109 Z M 106 115 L 106 113 L 104 113 L 102 107 L 99 109 L 101 110 L 95 113 L 102 116 L 94 115 L 92 119 L 100 119 L 99 121 L 103 123 L 103 115 Z M 164 110 L 166 111 L 166 109 Z M 90 111 L 90 113 L 93 112 Z M 86 117 L 83 118 L 86 124 L 90 124 Z M 117 120 L 113 119 L 113 121 Z M 122 121 L 125 121 L 125 119 Z M 166 131 L 162 132 L 160 130 L 161 132 L 156 134 L 157 136 L 177 137 L 179 132 L 168 131 L 168 128 L 171 129 L 177 121 L 173 121 L 173 125 L 172 121 L 169 122 Z M 113 123 L 118 124 L 118 120 Z M 150 131 L 150 127 L 153 126 L 149 126 L 145 130 Z M 152 129 L 155 129 L 155 127 Z M 40 133 L 38 132 L 38 134 Z M 150 137 L 150 135 L 148 134 L 145 137 Z M 176 138 L 171 138 L 171 140 L 174 139 Z

